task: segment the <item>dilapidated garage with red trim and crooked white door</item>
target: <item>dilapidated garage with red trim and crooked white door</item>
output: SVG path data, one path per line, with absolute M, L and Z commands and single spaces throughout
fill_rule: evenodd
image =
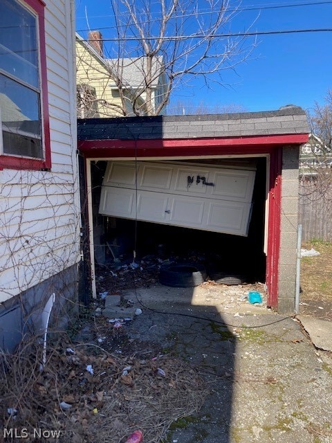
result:
M 297 107 L 78 120 L 92 277 L 109 255 L 194 252 L 212 268 L 264 282 L 268 305 L 291 311 L 298 152 L 307 138 Z

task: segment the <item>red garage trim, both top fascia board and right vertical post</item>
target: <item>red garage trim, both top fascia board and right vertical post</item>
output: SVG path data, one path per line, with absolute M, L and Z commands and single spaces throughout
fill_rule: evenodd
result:
M 79 150 L 89 159 L 151 158 L 167 156 L 199 157 L 221 155 L 270 155 L 270 183 L 268 206 L 268 244 L 266 257 L 266 285 L 268 306 L 277 308 L 280 208 L 282 206 L 282 147 L 295 148 L 308 141 L 308 134 L 248 136 L 238 138 L 204 138 L 183 140 L 95 140 L 78 141 Z

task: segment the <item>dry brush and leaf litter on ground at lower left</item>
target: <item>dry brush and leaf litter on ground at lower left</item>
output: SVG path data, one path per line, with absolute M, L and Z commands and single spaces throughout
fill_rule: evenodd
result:
M 174 420 L 197 412 L 208 395 L 198 372 L 172 356 L 118 356 L 98 345 L 64 341 L 48 347 L 42 370 L 41 361 L 42 347 L 35 343 L 1 361 L 1 433 L 26 430 L 25 442 L 121 443 L 140 429 L 145 442 L 157 443 Z M 35 429 L 59 431 L 59 440 L 36 440 Z

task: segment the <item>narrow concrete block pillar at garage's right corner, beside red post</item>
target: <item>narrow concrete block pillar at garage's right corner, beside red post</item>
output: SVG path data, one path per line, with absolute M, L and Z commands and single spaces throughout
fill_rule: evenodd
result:
M 279 255 L 278 311 L 295 311 L 299 147 L 284 146 L 282 152 L 282 208 Z

